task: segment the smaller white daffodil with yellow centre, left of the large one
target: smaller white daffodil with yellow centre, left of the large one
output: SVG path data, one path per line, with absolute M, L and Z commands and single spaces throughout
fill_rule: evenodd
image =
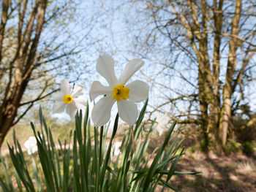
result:
M 64 112 L 67 106 L 67 114 L 74 119 L 78 109 L 86 109 L 86 101 L 83 98 L 78 98 L 84 93 L 83 85 L 75 84 L 72 93 L 70 93 L 71 86 L 68 80 L 62 80 L 60 89 L 61 91 L 53 94 L 53 99 L 56 100 L 53 104 L 53 112 Z

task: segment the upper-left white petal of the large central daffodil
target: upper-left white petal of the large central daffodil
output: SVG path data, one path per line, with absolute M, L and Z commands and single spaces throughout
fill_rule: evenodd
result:
M 115 71 L 115 61 L 108 55 L 99 56 L 97 61 L 96 70 L 97 72 L 105 77 L 111 87 L 115 87 L 118 83 Z

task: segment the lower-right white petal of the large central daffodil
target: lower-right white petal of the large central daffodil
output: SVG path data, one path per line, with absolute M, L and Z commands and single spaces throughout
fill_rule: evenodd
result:
M 117 107 L 120 118 L 128 123 L 129 126 L 132 126 L 138 117 L 137 105 L 133 101 L 121 99 L 121 101 L 117 102 Z

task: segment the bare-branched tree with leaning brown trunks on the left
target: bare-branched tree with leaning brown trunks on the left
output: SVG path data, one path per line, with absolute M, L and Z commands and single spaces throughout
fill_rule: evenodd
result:
M 94 44 L 86 39 L 94 20 L 80 15 L 83 25 L 78 28 L 76 7 L 69 0 L 1 2 L 0 147 L 7 131 L 34 103 L 56 91 L 52 89 L 56 74 L 76 80 L 86 72 L 86 65 L 77 65 L 78 53 L 85 51 L 81 42 L 86 49 Z

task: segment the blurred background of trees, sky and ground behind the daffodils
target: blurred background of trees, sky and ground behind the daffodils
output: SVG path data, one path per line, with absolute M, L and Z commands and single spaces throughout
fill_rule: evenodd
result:
M 61 80 L 84 85 L 89 100 L 91 82 L 102 80 L 99 55 L 113 56 L 117 76 L 142 58 L 133 78 L 151 87 L 151 148 L 177 119 L 187 147 L 179 169 L 203 172 L 176 183 L 184 191 L 256 191 L 255 1 L 3 0 L 0 13 L 2 153 L 13 128 L 20 143 L 32 135 L 39 105 L 53 136 L 69 137 L 74 122 L 52 113 Z

